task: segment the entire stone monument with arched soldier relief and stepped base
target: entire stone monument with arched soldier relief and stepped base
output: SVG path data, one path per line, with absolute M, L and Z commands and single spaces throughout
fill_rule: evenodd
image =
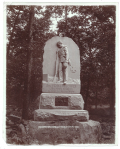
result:
M 44 47 L 42 94 L 34 112 L 36 133 L 44 143 L 52 139 L 53 144 L 63 144 L 66 138 L 72 140 L 67 143 L 100 141 L 100 123 L 89 120 L 80 88 L 78 46 L 68 37 L 51 38 Z

